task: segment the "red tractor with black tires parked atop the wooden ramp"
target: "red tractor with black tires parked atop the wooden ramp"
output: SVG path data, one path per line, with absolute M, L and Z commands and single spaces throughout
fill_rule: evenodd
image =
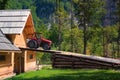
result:
M 41 33 L 34 33 L 32 38 L 27 42 L 29 48 L 38 48 L 42 47 L 44 50 L 50 50 L 52 41 L 47 40 L 41 36 Z

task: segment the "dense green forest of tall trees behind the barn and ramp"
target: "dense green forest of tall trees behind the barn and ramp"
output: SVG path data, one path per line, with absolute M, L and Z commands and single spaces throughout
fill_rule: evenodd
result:
M 52 49 L 120 58 L 120 1 L 114 0 L 111 14 L 106 2 L 0 0 L 0 9 L 30 9 L 36 31 L 52 40 Z

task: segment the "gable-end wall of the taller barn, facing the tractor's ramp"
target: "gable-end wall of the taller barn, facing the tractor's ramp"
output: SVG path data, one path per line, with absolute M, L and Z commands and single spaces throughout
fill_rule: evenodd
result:
M 32 37 L 31 34 L 33 34 L 34 31 L 35 30 L 34 30 L 34 25 L 32 22 L 32 16 L 29 15 L 27 22 L 26 22 L 26 26 L 25 26 L 23 33 L 22 33 L 24 35 L 25 40 L 28 38 L 31 38 Z M 24 40 L 24 42 L 26 44 L 27 41 L 25 41 L 25 40 Z M 32 59 L 30 59 L 31 55 L 33 56 Z M 29 71 L 29 70 L 33 70 L 33 69 L 36 69 L 36 52 L 25 51 L 25 72 Z

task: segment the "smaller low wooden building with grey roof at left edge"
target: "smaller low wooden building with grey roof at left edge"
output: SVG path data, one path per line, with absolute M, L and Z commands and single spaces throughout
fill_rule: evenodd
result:
M 14 46 L 0 30 L 0 76 L 14 75 L 14 55 L 19 54 L 18 52 L 20 53 L 20 49 Z

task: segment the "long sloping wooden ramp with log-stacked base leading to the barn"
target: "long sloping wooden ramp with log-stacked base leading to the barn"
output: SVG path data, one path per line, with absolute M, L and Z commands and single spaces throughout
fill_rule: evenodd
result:
M 117 59 L 83 55 L 83 54 L 63 52 L 63 51 L 40 50 L 40 49 L 30 49 L 30 48 L 20 48 L 20 49 L 51 53 L 53 68 L 120 69 L 120 60 Z

